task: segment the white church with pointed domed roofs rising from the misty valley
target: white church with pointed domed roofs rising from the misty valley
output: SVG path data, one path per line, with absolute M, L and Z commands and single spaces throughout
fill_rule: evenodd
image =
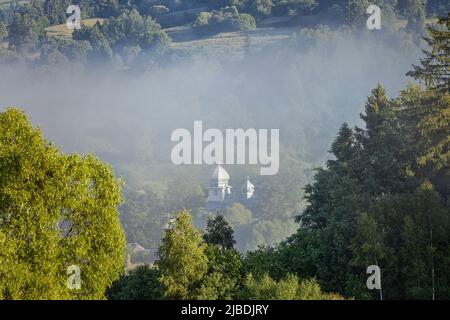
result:
M 229 181 L 228 172 L 220 164 L 217 164 L 209 178 L 208 199 L 206 200 L 208 211 L 222 210 L 233 202 L 245 204 L 253 198 L 255 186 L 248 177 L 237 193 L 232 191 Z

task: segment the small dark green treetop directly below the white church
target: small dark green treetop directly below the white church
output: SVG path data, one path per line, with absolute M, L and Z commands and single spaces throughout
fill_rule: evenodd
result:
M 215 244 L 223 249 L 231 249 L 236 243 L 233 233 L 233 229 L 224 217 L 217 215 L 208 219 L 204 240 L 208 244 Z

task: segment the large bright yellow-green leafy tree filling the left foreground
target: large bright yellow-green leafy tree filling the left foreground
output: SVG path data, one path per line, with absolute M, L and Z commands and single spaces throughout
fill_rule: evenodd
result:
M 17 109 L 0 113 L 0 299 L 102 299 L 124 268 L 121 185 L 64 155 Z M 67 288 L 67 268 L 81 288 Z

